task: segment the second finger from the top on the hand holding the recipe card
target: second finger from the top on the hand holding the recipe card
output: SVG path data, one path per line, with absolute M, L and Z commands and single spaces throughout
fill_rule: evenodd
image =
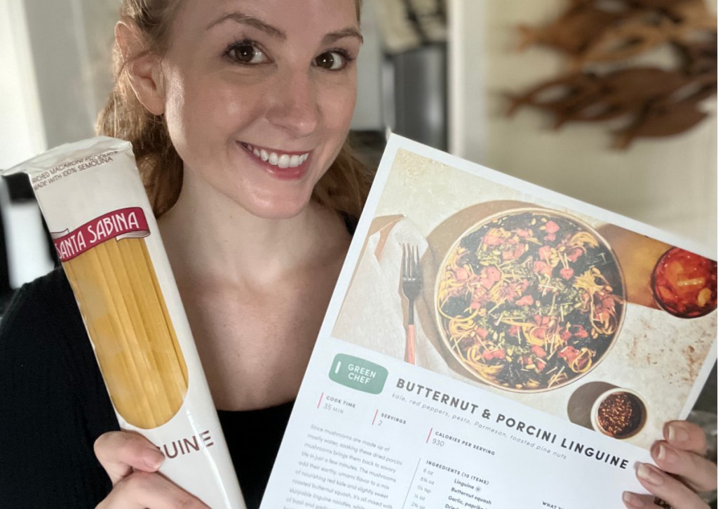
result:
M 668 442 L 659 441 L 651 448 L 656 465 L 665 472 L 677 475 L 696 491 L 711 491 L 716 488 L 718 471 L 708 459 L 690 451 L 676 449 Z

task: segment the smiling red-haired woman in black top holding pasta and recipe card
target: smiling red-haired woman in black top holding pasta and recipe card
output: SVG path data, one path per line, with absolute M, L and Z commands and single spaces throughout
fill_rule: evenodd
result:
M 359 11 L 360 0 L 126 0 L 116 28 L 118 80 L 99 131 L 134 144 L 230 448 L 262 436 L 257 450 L 241 444 L 243 461 L 235 461 L 250 507 L 264 491 L 367 191 L 345 148 Z M 163 459 L 154 446 L 116 430 L 77 311 L 37 320 L 50 290 L 67 295 L 59 272 L 22 290 L 0 339 L 8 364 L 0 385 L 14 394 L 0 396 L 0 411 L 10 416 L 6 433 L 23 437 L 9 482 L 38 480 L 10 491 L 11 504 L 204 507 L 154 473 Z M 58 334 L 67 315 L 72 324 Z M 51 331 L 60 346 L 37 354 L 33 342 Z M 27 376 L 28 365 L 36 375 Z M 43 431 L 23 427 L 42 416 Z M 62 439 L 48 439 L 57 428 Z M 711 487 L 715 472 L 699 457 L 704 436 L 688 423 L 666 429 L 654 451 L 665 472 L 643 467 L 642 482 L 676 508 L 700 507 L 691 488 Z M 45 459 L 27 462 L 41 449 Z M 645 499 L 626 495 L 628 507 L 651 507 L 636 500 Z

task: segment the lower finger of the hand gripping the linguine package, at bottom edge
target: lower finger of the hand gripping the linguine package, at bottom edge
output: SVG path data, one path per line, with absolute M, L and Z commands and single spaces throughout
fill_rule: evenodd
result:
M 117 482 L 96 509 L 209 509 L 161 474 L 134 472 Z

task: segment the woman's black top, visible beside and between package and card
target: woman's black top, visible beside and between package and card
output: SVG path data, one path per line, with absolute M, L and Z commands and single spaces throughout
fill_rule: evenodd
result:
M 292 403 L 220 411 L 248 508 L 256 508 Z M 0 322 L 0 506 L 94 508 L 111 483 L 93 443 L 118 429 L 62 270 L 24 285 Z

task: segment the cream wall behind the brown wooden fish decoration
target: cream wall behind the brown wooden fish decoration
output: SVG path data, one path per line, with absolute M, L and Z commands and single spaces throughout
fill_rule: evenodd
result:
M 712 6 L 715 6 L 715 0 Z M 520 93 L 565 69 L 553 50 L 517 50 L 519 23 L 540 26 L 566 0 L 449 0 L 452 24 L 451 150 L 529 180 L 701 242 L 716 250 L 717 123 L 711 112 L 690 132 L 610 147 L 607 126 L 569 124 L 560 131 L 540 111 L 507 118 L 507 92 Z M 460 35 L 461 37 L 454 37 Z M 656 52 L 653 63 L 668 63 Z

